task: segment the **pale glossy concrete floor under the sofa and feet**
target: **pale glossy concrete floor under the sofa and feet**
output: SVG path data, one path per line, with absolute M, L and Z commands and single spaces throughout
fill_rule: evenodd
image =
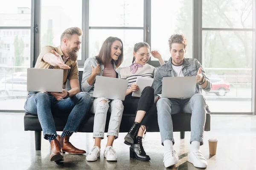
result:
M 174 167 L 163 165 L 163 146 L 160 145 L 160 133 L 147 133 L 143 142 L 151 161 L 143 162 L 129 158 L 129 146 L 123 143 L 125 133 L 120 133 L 114 142 L 118 156 L 117 162 L 104 159 L 106 139 L 102 140 L 100 159 L 86 161 L 86 155 L 93 147 L 92 133 L 75 133 L 70 141 L 73 145 L 87 151 L 85 155 L 64 155 L 64 161 L 56 164 L 49 161 L 50 145 L 42 139 L 41 151 L 35 151 L 34 132 L 24 131 L 23 113 L 0 113 L 1 149 L 0 170 L 54 170 L 54 169 L 92 169 L 92 170 L 198 170 L 187 161 L 190 132 L 185 139 L 174 133 L 174 148 L 180 161 Z M 61 132 L 58 132 L 61 134 Z M 105 134 L 106 135 L 106 134 Z M 218 147 L 215 156 L 209 155 L 207 139 L 217 138 Z M 212 115 L 211 131 L 204 133 L 204 145 L 201 151 L 208 162 L 207 170 L 256 170 L 256 116 L 250 115 Z

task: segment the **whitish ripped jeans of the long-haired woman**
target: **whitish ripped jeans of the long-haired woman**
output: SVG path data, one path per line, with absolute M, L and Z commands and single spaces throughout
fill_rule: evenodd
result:
M 102 100 L 106 100 L 107 102 Z M 111 116 L 108 124 L 107 136 L 116 136 L 116 139 L 118 138 L 124 106 L 122 104 L 122 101 L 119 99 L 108 100 L 104 97 L 94 99 L 93 105 L 91 106 L 91 112 L 95 113 L 93 124 L 93 138 L 104 139 L 108 110 L 111 112 Z

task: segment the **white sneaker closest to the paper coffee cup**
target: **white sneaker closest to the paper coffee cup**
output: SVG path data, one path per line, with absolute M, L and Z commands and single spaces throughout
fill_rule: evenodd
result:
M 206 168 L 208 165 L 200 150 L 198 150 L 197 152 L 189 151 L 188 161 L 192 163 L 195 167 Z

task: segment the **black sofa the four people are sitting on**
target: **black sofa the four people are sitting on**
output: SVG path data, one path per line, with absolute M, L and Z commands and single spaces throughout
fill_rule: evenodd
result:
M 79 71 L 79 83 L 81 88 L 81 80 L 82 80 L 82 71 Z M 69 82 L 67 83 L 67 89 L 70 89 Z M 120 125 L 119 132 L 125 132 L 127 133 L 131 127 L 131 125 L 134 122 L 135 114 L 126 113 L 124 110 L 123 116 L 122 116 L 122 122 Z M 151 125 L 148 127 L 148 132 L 159 132 L 159 127 L 157 123 L 157 113 L 154 115 L 155 117 L 152 119 Z M 67 122 L 67 115 L 55 115 L 53 114 L 55 127 L 57 131 L 62 131 L 66 125 Z M 108 122 L 110 119 L 110 113 L 107 115 L 107 122 L 105 127 L 105 132 L 108 131 Z M 173 131 L 174 132 L 180 132 L 180 139 L 184 139 L 185 137 L 185 131 L 190 131 L 190 119 L 191 114 L 189 113 L 178 113 L 175 115 L 172 115 L 172 122 L 173 122 Z M 94 120 L 94 114 L 90 113 L 84 121 L 81 123 L 78 132 L 93 132 L 93 120 Z M 210 114 L 207 113 L 206 115 L 206 122 L 204 126 L 205 131 L 210 130 L 210 121 L 211 117 Z M 35 131 L 35 150 L 41 150 L 41 125 L 38 120 L 38 116 L 34 116 L 30 113 L 25 113 L 24 116 L 24 130 L 30 130 Z M 160 139 L 159 139 L 160 140 Z

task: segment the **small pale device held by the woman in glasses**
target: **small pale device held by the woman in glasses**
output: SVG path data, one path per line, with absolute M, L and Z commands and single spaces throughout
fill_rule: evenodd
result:
M 148 77 L 137 77 L 136 85 L 139 86 L 140 90 L 132 92 L 131 96 L 134 97 L 140 97 L 141 92 L 144 90 L 147 86 L 152 86 L 154 79 L 148 78 Z

